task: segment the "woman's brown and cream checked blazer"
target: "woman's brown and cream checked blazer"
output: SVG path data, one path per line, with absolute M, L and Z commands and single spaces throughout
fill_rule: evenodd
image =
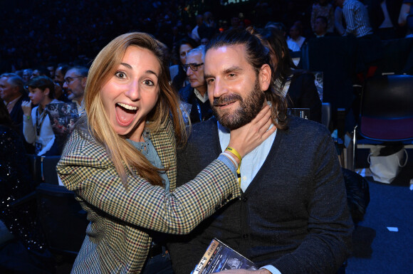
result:
M 226 201 L 240 196 L 235 174 L 219 160 L 175 189 L 172 122 L 151 133 L 151 140 L 168 167 L 168 193 L 136 174 L 129 175 L 126 190 L 100 144 L 77 130 L 70 135 L 57 171 L 90 221 L 73 273 L 140 273 L 152 243 L 150 230 L 189 233 Z

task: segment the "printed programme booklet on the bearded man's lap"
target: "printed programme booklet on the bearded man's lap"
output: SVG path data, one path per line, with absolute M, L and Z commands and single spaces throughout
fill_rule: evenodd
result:
M 192 274 L 216 273 L 229 269 L 257 270 L 258 268 L 251 260 L 214 238 Z

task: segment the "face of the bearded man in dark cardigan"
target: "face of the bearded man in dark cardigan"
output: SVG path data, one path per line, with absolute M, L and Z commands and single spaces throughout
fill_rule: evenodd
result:
M 263 90 L 269 85 L 258 80 L 245 54 L 244 45 L 235 45 L 209 49 L 205 56 L 209 102 L 221 125 L 230 130 L 256 117 L 265 102 Z

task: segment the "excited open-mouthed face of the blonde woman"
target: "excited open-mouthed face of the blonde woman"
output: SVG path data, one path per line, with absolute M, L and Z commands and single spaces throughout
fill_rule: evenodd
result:
M 160 63 L 152 51 L 130 46 L 102 90 L 100 98 L 110 125 L 118 135 L 130 135 L 140 142 L 147 114 L 155 107 L 160 94 Z M 136 133 L 135 133 L 136 132 Z

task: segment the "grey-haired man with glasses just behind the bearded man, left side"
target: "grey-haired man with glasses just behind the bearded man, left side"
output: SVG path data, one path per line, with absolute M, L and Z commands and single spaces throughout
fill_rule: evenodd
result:
M 189 119 L 192 124 L 212 117 L 204 79 L 204 49 L 205 46 L 199 46 L 187 53 L 187 63 L 184 64 L 184 69 L 187 71 L 190 85 L 179 90 L 181 100 L 190 105 L 187 110 L 190 110 Z

